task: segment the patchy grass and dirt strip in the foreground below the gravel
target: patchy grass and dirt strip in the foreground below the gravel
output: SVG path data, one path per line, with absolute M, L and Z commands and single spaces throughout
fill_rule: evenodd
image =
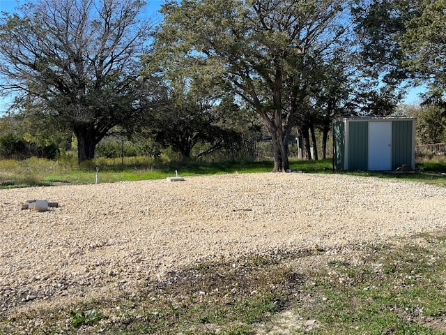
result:
M 0 314 L 0 334 L 446 334 L 445 237 L 203 262 L 134 295 Z

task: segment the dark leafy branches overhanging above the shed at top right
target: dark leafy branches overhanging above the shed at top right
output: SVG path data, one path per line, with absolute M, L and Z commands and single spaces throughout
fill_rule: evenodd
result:
M 429 94 L 446 89 L 446 1 L 363 0 L 355 7 L 355 32 L 364 64 L 393 87 L 431 84 Z

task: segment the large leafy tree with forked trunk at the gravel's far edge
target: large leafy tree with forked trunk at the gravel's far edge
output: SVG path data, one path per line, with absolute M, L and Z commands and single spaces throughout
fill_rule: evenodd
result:
M 256 111 L 270 135 L 274 170 L 289 169 L 288 141 L 315 59 L 346 41 L 344 0 L 183 0 L 162 7 L 157 48 L 194 59 Z

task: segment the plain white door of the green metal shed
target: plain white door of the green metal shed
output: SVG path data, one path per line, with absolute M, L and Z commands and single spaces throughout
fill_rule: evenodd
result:
M 392 169 L 392 122 L 369 122 L 369 166 L 371 171 Z

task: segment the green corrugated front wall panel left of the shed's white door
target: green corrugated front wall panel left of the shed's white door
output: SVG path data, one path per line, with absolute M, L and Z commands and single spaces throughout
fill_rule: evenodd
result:
M 367 170 L 367 121 L 350 122 L 348 126 L 348 170 Z

